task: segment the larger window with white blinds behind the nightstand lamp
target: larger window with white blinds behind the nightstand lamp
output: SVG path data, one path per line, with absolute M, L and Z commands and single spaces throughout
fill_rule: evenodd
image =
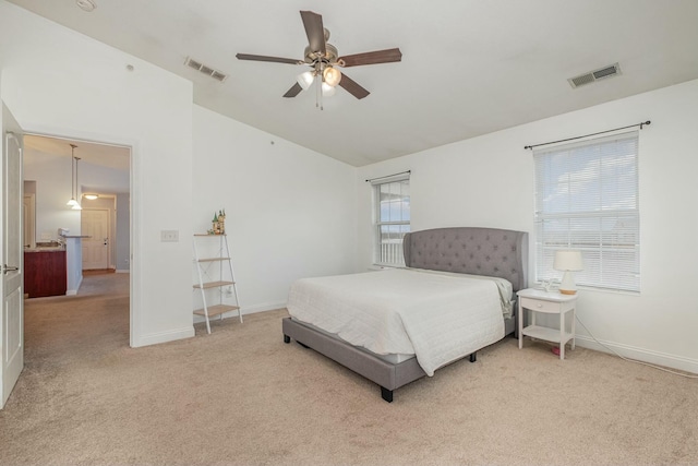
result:
M 559 278 L 553 258 L 580 250 L 578 285 L 640 290 L 638 132 L 533 152 L 535 279 Z

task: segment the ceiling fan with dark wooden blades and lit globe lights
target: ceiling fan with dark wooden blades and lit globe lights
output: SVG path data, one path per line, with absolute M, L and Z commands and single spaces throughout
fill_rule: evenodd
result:
M 301 73 L 298 76 L 298 82 L 284 94 L 284 97 L 296 97 L 301 91 L 306 89 L 314 81 L 317 81 L 318 96 L 329 96 L 334 94 L 335 86 L 339 85 L 354 97 L 364 98 L 370 92 L 341 73 L 337 68 L 389 63 L 402 59 L 402 52 L 400 52 L 399 48 L 339 57 L 337 47 L 327 41 L 329 39 L 329 31 L 323 26 L 323 16 L 312 11 L 301 11 L 301 19 L 303 20 L 309 44 L 308 47 L 305 47 L 304 58 L 302 60 L 250 53 L 236 55 L 239 60 L 270 61 L 274 63 L 304 64 L 310 67 L 311 70 Z

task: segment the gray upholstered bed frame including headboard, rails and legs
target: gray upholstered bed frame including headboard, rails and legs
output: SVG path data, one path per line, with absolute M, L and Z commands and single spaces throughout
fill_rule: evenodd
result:
M 498 228 L 453 227 L 413 231 L 402 242 L 408 267 L 496 276 L 508 279 L 514 291 L 527 287 L 528 234 Z M 515 307 L 516 309 L 516 307 Z M 291 338 L 381 385 L 381 395 L 393 401 L 393 391 L 424 375 L 411 358 L 390 363 L 371 353 L 334 338 L 291 318 L 282 320 L 284 342 Z M 516 328 L 516 316 L 505 320 L 505 334 Z M 477 353 L 470 355 L 474 362 Z

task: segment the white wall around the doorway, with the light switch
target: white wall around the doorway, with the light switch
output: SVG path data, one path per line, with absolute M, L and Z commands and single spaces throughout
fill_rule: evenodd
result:
M 0 69 L 26 131 L 132 147 L 131 344 L 192 336 L 191 82 L 3 0 Z

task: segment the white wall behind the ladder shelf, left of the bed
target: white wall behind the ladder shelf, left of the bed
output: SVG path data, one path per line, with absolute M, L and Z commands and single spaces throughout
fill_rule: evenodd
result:
M 243 312 L 300 277 L 356 267 L 356 168 L 194 106 L 193 229 L 226 210 Z

